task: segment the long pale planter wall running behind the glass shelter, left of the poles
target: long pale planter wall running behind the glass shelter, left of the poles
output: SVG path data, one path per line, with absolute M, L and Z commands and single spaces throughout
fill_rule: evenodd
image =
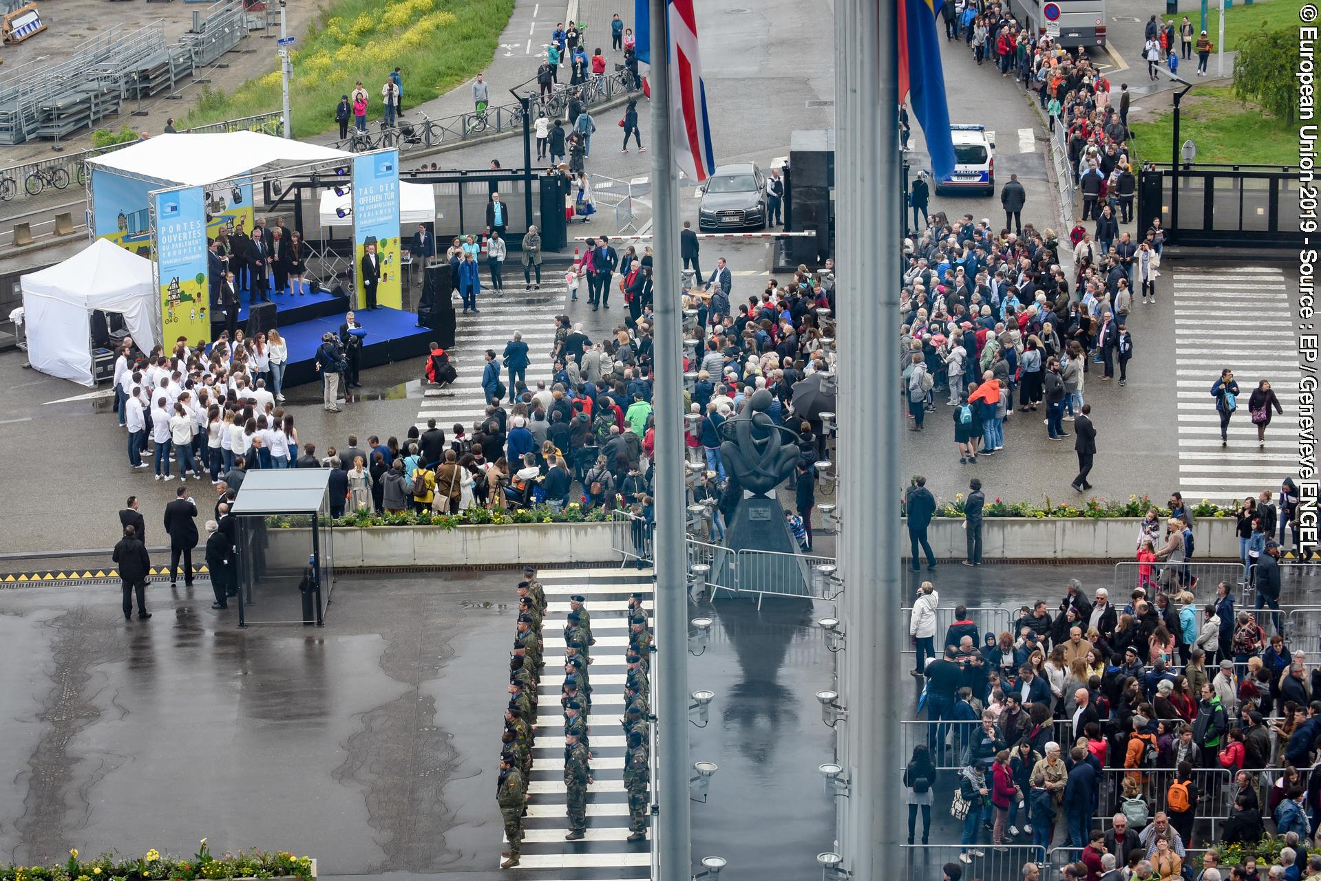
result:
M 308 529 L 271 529 L 267 563 L 305 566 Z M 336 526 L 334 563 L 357 566 L 490 566 L 618 562 L 614 525 L 501 524 L 482 526 Z

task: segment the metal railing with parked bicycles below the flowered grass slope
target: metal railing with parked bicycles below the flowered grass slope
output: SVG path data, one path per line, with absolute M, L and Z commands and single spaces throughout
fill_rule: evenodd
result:
M 553 90 L 550 98 L 531 102 L 531 111 L 544 111 L 551 120 L 559 119 L 568 112 L 569 98 L 577 91 L 579 100 L 584 108 L 594 104 L 635 92 L 641 84 L 626 80 L 624 71 L 616 71 L 596 80 L 580 83 L 577 86 L 560 86 Z M 481 113 L 466 111 L 440 119 L 431 119 L 419 112 L 421 121 L 399 120 L 395 125 L 384 125 L 376 121 L 366 132 L 350 131 L 349 137 L 334 142 L 341 150 L 361 153 L 383 146 L 398 146 L 407 152 L 413 148 L 433 148 L 448 141 L 466 141 L 474 137 L 489 135 L 502 135 L 510 131 L 523 131 L 523 106 L 519 102 L 507 104 L 487 106 Z M 373 132 L 371 129 L 376 131 Z M 602 128 L 604 127 L 598 127 Z M 567 132 L 565 132 L 567 135 Z

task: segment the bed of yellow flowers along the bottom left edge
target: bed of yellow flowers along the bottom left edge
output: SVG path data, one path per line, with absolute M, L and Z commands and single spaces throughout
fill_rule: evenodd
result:
M 197 878 L 301 878 L 317 877 L 317 861 L 287 851 L 240 851 L 211 856 L 206 839 L 192 857 L 176 859 L 156 848 L 133 859 L 102 853 L 81 860 L 69 852 L 62 865 L 3 865 L 0 881 L 196 881 Z

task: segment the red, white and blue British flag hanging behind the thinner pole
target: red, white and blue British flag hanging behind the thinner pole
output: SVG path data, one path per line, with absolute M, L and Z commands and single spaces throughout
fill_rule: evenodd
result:
M 635 26 L 638 61 L 651 63 L 651 3 L 637 0 Z M 707 87 L 701 82 L 701 59 L 697 54 L 697 16 L 692 0 L 667 0 L 666 21 L 670 32 L 670 132 L 674 138 L 675 162 L 694 181 L 711 177 L 716 153 L 711 144 L 711 119 L 707 113 Z

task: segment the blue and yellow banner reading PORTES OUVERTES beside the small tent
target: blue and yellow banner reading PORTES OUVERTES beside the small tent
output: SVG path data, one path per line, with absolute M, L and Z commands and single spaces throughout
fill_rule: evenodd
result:
M 156 264 L 165 347 L 180 336 L 210 342 L 206 277 L 206 194 L 202 187 L 156 194 Z

